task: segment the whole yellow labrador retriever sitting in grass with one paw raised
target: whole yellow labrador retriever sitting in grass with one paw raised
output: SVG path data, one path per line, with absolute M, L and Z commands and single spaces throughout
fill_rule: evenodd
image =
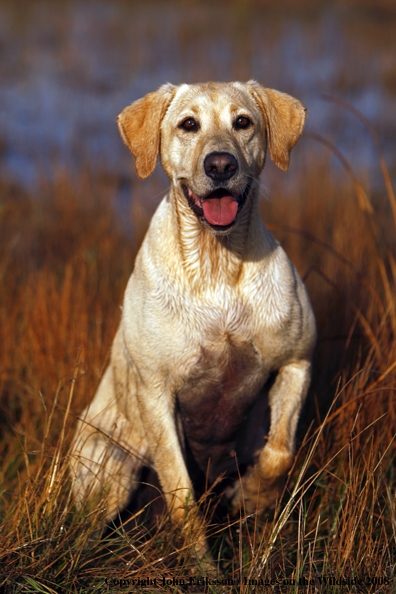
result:
M 188 450 L 210 481 L 247 469 L 228 490 L 235 506 L 274 505 L 316 330 L 296 269 L 260 220 L 258 187 L 267 147 L 288 169 L 305 112 L 249 81 L 167 84 L 118 116 L 138 176 L 160 154 L 171 188 L 136 258 L 110 365 L 77 427 L 77 500 L 103 488 L 114 516 L 148 465 L 173 520 L 186 521 Z M 265 443 L 261 390 L 275 372 Z M 204 537 L 199 547 L 202 555 Z

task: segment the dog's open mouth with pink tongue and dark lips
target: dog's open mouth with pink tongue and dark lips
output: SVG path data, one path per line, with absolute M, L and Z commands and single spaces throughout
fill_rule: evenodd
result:
M 236 223 L 238 212 L 245 204 L 249 193 L 250 184 L 247 184 L 240 195 L 233 194 L 225 188 L 218 188 L 204 197 L 196 196 L 184 184 L 182 187 L 188 204 L 195 214 L 214 229 L 224 230 Z

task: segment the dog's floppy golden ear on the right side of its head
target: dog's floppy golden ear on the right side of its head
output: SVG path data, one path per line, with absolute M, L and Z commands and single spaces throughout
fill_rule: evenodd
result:
M 290 153 L 301 136 L 307 110 L 294 97 L 265 89 L 255 80 L 250 80 L 247 87 L 262 111 L 271 159 L 287 171 Z

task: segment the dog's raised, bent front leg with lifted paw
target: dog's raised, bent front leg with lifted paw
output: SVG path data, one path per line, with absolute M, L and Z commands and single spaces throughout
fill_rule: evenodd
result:
M 281 494 L 283 478 L 293 463 L 297 423 L 310 379 L 311 364 L 306 360 L 279 370 L 269 393 L 271 426 L 268 441 L 252 472 L 242 481 L 248 513 L 273 508 Z M 233 503 L 242 503 L 240 490 Z

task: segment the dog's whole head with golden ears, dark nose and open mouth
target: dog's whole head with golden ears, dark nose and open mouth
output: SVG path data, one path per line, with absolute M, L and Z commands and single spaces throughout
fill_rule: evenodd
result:
M 297 99 L 248 83 L 167 84 L 118 116 L 141 179 L 161 163 L 203 227 L 236 225 L 252 184 L 272 160 L 287 171 L 306 109 Z

